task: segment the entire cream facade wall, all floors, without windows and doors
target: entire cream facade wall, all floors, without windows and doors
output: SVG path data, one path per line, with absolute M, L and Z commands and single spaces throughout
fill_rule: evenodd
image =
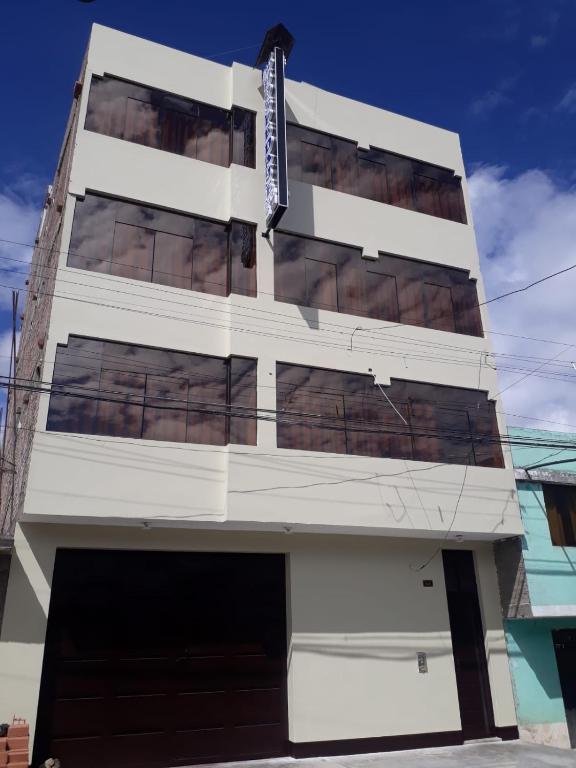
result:
M 104 73 L 226 109 L 253 110 L 256 169 L 224 168 L 84 130 L 90 79 Z M 282 228 L 359 246 L 372 257 L 386 252 L 469 270 L 482 302 L 457 135 L 306 83 L 288 81 L 286 93 L 293 122 L 454 169 L 463 178 L 469 223 L 292 182 Z M 263 409 L 276 408 L 277 361 L 372 370 L 382 384 L 409 379 L 496 396 L 496 373 L 484 358 L 491 351 L 487 338 L 275 302 L 274 234 L 271 241 L 260 237 L 259 70 L 222 66 L 96 25 L 78 124 L 44 381 L 51 380 L 57 345 L 78 335 L 255 357 Z M 75 198 L 87 191 L 257 223 L 258 297 L 160 288 L 66 266 Z M 487 328 L 484 308 L 482 321 Z M 0 644 L 0 720 L 16 713 L 34 723 L 57 548 L 212 548 L 288 555 L 293 742 L 457 731 L 441 557 L 424 571 L 418 566 L 439 547 L 464 546 L 476 557 L 496 726 L 515 724 L 491 548 L 493 540 L 522 532 L 507 449 L 505 469 L 466 470 L 278 449 L 273 421 L 258 423 L 254 447 L 75 436 L 46 431 L 48 404 L 41 398 L 15 539 Z M 504 431 L 501 416 L 499 422 Z M 423 578 L 434 588 L 422 589 Z M 420 651 L 429 657 L 427 675 L 418 674 Z

